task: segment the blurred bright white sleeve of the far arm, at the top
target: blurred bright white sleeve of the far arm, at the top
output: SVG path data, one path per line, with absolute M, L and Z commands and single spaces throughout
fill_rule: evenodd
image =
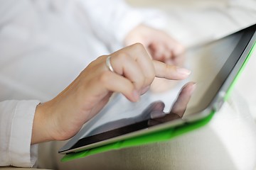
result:
M 111 51 L 123 46 L 125 35 L 141 23 L 163 28 L 164 13 L 152 8 L 135 8 L 122 0 L 79 1 L 93 32 Z

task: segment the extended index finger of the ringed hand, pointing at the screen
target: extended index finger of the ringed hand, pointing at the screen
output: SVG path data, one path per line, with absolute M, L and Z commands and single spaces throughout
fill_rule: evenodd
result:
M 186 79 L 186 77 L 191 74 L 191 71 L 189 71 L 188 69 L 165 64 L 156 60 L 153 60 L 153 64 L 156 77 L 159 78 L 180 80 Z

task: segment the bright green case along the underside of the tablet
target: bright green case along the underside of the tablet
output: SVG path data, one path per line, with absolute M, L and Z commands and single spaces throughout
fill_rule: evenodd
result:
M 228 89 L 228 92 L 225 96 L 225 100 L 228 99 L 230 96 L 231 91 L 233 90 L 233 87 L 235 86 L 235 82 L 238 81 L 238 77 L 240 77 L 240 74 L 242 73 L 243 69 L 245 69 L 245 64 L 247 64 L 248 60 L 250 59 L 252 52 L 256 48 L 256 42 L 254 45 L 252 45 L 252 48 L 250 49 L 249 54 L 247 55 L 245 62 L 243 62 L 242 67 L 240 68 L 238 74 L 236 75 L 235 79 L 233 80 L 233 83 L 230 85 L 230 88 Z M 92 154 L 99 154 L 102 152 L 107 152 L 114 149 L 122 149 L 127 147 L 136 147 L 139 145 L 147 145 L 155 142 L 164 142 L 166 140 L 171 140 L 172 138 L 182 135 L 183 133 L 189 132 L 191 130 L 195 130 L 196 128 L 200 128 L 203 125 L 206 125 L 211 118 L 213 118 L 215 111 L 212 111 L 206 118 L 203 118 L 201 120 L 197 120 L 195 122 L 191 123 L 185 123 L 183 125 L 179 125 L 174 128 L 168 128 L 165 130 L 159 130 L 156 132 L 151 132 L 145 135 L 140 135 L 138 137 L 131 137 L 127 140 L 120 140 L 119 142 L 113 142 L 108 145 L 103 145 L 101 147 L 95 147 L 92 149 L 86 149 L 82 152 L 76 152 L 72 154 L 65 154 L 65 156 L 61 159 L 62 162 L 67 162 L 72 159 L 78 159 L 82 157 L 87 157 Z

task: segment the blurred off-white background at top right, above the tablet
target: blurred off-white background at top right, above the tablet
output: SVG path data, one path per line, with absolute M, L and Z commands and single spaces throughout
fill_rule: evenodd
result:
M 220 38 L 256 23 L 254 0 L 127 0 L 136 7 L 159 8 L 167 16 L 166 30 L 190 46 Z

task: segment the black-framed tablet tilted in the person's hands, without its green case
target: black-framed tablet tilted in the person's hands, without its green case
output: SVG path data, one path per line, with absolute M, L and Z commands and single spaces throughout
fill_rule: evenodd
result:
M 142 96 L 144 103 L 129 103 L 125 106 L 121 103 L 114 106 L 116 102 L 112 100 L 108 106 L 118 108 L 115 113 L 106 106 L 59 153 L 81 152 L 166 130 L 201 120 L 213 111 L 218 111 L 225 101 L 230 85 L 255 46 L 255 30 L 256 25 L 250 26 L 219 40 L 189 49 L 186 53 L 186 65 L 192 74 L 188 80 L 181 81 L 180 86 L 176 87 L 179 89 L 176 94 L 169 94 L 174 100 L 150 101 L 150 92 Z M 149 102 L 145 102 L 147 100 Z M 165 112 L 164 106 L 170 103 L 169 111 Z M 129 116 L 113 116 L 125 115 L 123 113 L 127 112 L 127 108 Z M 105 115 L 108 119 L 99 123 L 102 118 L 100 115 Z

